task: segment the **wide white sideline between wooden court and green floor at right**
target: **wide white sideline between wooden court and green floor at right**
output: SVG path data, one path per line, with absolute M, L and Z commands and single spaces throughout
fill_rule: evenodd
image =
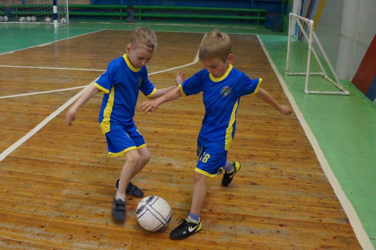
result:
M 285 95 L 287 96 L 288 100 L 290 101 L 291 106 L 294 109 L 294 112 L 296 114 L 296 117 L 298 118 L 300 124 L 302 125 L 302 128 L 309 140 L 309 142 L 312 145 L 312 148 L 315 151 L 315 154 L 317 156 L 318 162 L 320 162 L 321 168 L 324 171 L 324 174 L 326 175 L 327 179 L 329 180 L 329 183 L 333 187 L 333 190 L 335 194 L 337 195 L 338 200 L 340 201 L 347 218 L 349 218 L 350 224 L 354 230 L 354 233 L 356 235 L 356 238 L 358 238 L 359 244 L 364 250 L 373 250 L 373 245 L 371 244 L 370 238 L 368 237 L 367 233 L 365 232 L 362 223 L 360 222 L 358 215 L 356 215 L 355 209 L 351 205 L 349 199 L 347 199 L 345 193 L 343 192 L 340 183 L 338 183 L 337 178 L 335 177 L 334 173 L 332 172 L 332 169 L 330 168 L 329 164 L 326 161 L 325 155 L 323 151 L 321 151 L 320 146 L 318 145 L 317 139 L 314 136 L 314 134 L 311 131 L 311 128 L 309 128 L 308 123 L 306 122 L 302 112 L 300 111 L 298 105 L 296 104 L 293 95 L 291 95 L 290 91 L 287 88 L 287 85 L 282 78 L 282 75 L 277 70 L 277 67 L 275 66 L 274 62 L 272 61 L 268 51 L 266 50 L 264 43 L 262 43 L 261 38 L 259 35 L 256 35 L 258 38 L 262 49 L 264 50 L 265 55 L 267 56 L 270 66 L 273 68 L 274 73 L 277 75 L 277 78 L 279 79 L 280 84 L 282 85 L 282 88 L 285 92 Z

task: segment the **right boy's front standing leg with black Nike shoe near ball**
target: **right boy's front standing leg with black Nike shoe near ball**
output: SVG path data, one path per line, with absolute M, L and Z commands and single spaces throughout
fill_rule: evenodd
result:
M 193 174 L 193 196 L 192 196 L 192 204 L 191 204 L 191 212 L 190 215 L 198 215 L 198 221 L 190 220 L 190 216 L 188 216 L 188 220 L 181 220 L 180 225 L 177 226 L 174 230 L 170 233 L 171 239 L 184 239 L 193 233 L 197 233 L 201 230 L 201 220 L 200 220 L 200 212 L 202 206 L 205 201 L 207 187 L 206 187 L 206 177 L 199 172 L 194 171 Z

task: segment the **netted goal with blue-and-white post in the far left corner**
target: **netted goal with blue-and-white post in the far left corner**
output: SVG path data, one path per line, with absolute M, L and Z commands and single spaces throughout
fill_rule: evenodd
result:
M 63 26 L 69 23 L 68 0 L 0 0 L 2 23 Z

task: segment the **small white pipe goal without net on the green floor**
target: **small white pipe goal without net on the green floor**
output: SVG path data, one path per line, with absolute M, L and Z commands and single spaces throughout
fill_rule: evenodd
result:
M 296 42 L 295 45 L 295 51 L 292 52 L 292 42 Z M 299 47 L 299 45 L 308 45 L 308 54 L 306 53 L 306 46 L 304 49 L 296 49 Z M 318 52 L 320 52 L 321 56 L 323 56 L 323 61 L 326 62 L 327 67 L 329 67 L 329 70 L 331 72 L 331 77 L 328 76 L 326 73 L 323 64 L 321 63 L 320 58 L 317 55 L 316 48 L 318 48 Z M 304 53 L 304 55 L 303 55 Z M 318 72 L 312 72 L 315 70 L 312 70 L 313 67 L 311 65 L 311 54 L 314 55 L 317 64 L 314 66 L 317 66 Z M 294 56 L 293 62 L 290 61 L 291 55 Z M 302 65 L 302 61 L 307 61 L 306 63 L 306 71 L 305 72 L 293 72 L 294 70 L 291 70 L 291 65 Z M 299 68 L 299 67 L 298 67 Z M 296 71 L 299 71 L 296 70 Z M 300 76 L 306 76 L 305 79 L 305 89 L 304 93 L 306 94 L 326 94 L 326 95 L 349 95 L 349 91 L 345 90 L 340 80 L 338 79 L 326 53 L 324 52 L 323 47 L 320 44 L 320 41 L 318 41 L 318 38 L 314 31 L 314 21 L 309 20 L 308 18 L 301 17 L 299 15 L 290 13 L 289 15 L 289 27 L 288 27 L 288 42 L 287 42 L 287 59 L 286 59 L 286 75 L 300 75 Z M 331 82 L 335 87 L 338 88 L 337 91 L 331 91 L 331 90 L 321 90 L 321 91 L 311 91 L 308 90 L 308 83 L 310 80 L 310 76 L 316 75 L 316 76 L 322 76 L 327 81 Z M 334 78 L 334 80 L 332 79 Z M 326 88 L 326 87 L 323 87 Z

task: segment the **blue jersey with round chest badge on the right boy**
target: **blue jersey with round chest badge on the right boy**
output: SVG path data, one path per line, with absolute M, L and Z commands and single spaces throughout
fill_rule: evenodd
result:
M 229 150 L 240 97 L 255 95 L 261 82 L 262 79 L 250 79 L 230 64 L 220 78 L 203 69 L 179 85 L 183 96 L 203 92 L 205 116 L 197 139 L 199 145 Z

